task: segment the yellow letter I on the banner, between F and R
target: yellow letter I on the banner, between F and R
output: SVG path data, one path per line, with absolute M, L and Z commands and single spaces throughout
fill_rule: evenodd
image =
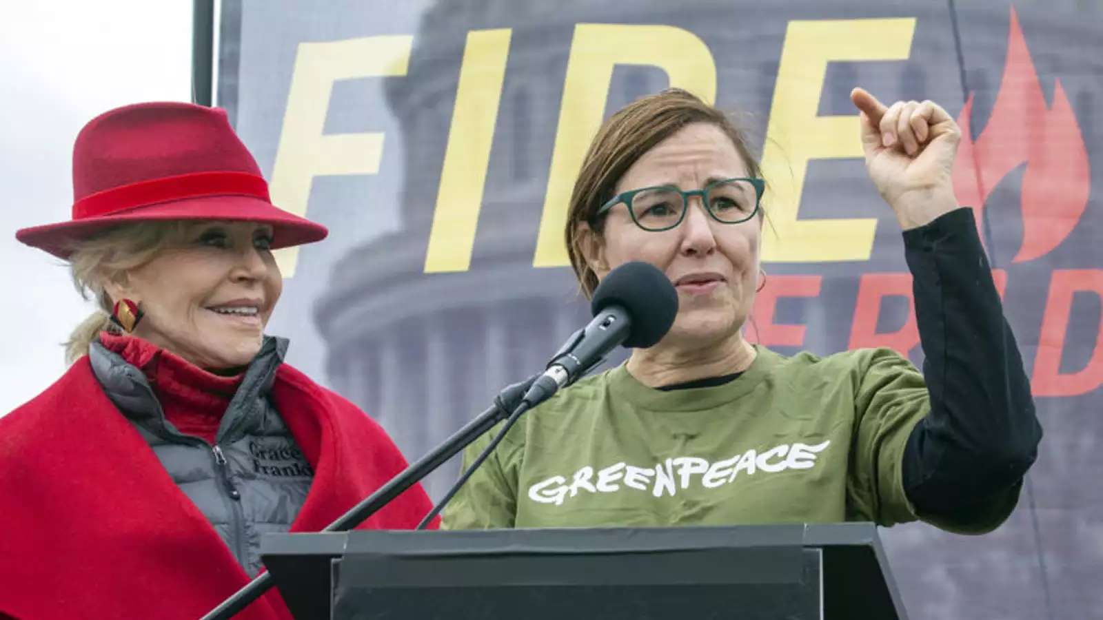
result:
M 467 271 L 510 54 L 510 29 L 468 33 L 452 128 L 425 255 L 426 272 Z

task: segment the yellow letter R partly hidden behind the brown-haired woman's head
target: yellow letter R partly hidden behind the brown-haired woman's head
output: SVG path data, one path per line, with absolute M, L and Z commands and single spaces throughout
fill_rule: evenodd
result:
M 657 66 L 666 72 L 672 87 L 685 88 L 709 104 L 716 100 L 713 54 L 692 32 L 670 25 L 576 25 L 534 267 L 570 264 L 563 239 L 570 192 L 586 149 L 601 127 L 609 81 L 618 64 Z

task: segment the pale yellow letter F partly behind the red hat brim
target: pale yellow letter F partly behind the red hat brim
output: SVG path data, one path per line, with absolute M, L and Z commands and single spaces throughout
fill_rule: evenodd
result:
M 322 133 L 330 95 L 338 79 L 406 75 L 413 44 L 409 35 L 299 44 L 272 169 L 270 191 L 277 206 L 306 215 L 314 177 L 379 171 L 382 132 Z M 277 250 L 285 277 L 295 275 L 298 257 L 296 247 Z

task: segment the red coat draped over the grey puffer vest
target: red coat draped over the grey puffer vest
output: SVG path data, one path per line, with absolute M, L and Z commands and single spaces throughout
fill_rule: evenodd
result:
M 314 469 L 292 532 L 329 525 L 406 467 L 374 420 L 287 364 L 271 397 Z M 417 485 L 361 528 L 409 530 L 430 507 Z M 87 356 L 0 418 L 0 618 L 194 620 L 248 581 Z M 290 613 L 274 589 L 237 617 Z

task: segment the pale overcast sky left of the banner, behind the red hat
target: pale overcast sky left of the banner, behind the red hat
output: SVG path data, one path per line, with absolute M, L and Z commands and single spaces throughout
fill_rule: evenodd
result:
M 15 240 L 67 220 L 73 140 L 110 108 L 191 97 L 191 0 L 6 2 L 0 20 L 0 416 L 64 371 L 61 342 L 92 307 L 68 272 Z

